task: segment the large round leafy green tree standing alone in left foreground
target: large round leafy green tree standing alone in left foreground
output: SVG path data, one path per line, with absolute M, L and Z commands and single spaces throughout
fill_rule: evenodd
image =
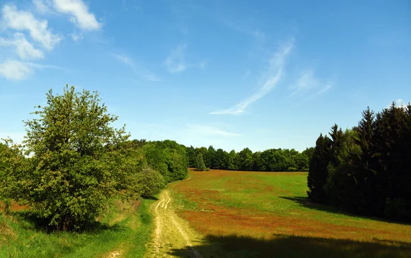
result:
M 37 216 L 60 229 L 94 222 L 114 194 L 124 192 L 132 177 L 123 164 L 125 128 L 114 129 L 97 92 L 47 93 L 45 107 L 25 122 L 26 156 L 5 175 L 0 189 L 27 203 Z M 24 161 L 24 162 L 23 162 Z

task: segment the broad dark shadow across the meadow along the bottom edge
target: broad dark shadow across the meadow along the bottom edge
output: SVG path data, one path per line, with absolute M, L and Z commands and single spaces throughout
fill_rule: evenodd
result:
M 271 240 L 228 235 L 208 235 L 206 244 L 194 246 L 203 258 L 406 258 L 411 244 L 406 242 L 358 242 L 322 237 L 273 235 Z M 187 248 L 173 249 L 170 255 L 190 257 Z M 193 257 L 193 256 L 192 256 Z

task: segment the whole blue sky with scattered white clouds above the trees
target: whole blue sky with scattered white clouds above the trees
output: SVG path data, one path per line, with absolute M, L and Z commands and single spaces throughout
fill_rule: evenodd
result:
M 0 1 L 0 138 L 45 93 L 98 90 L 132 138 L 314 146 L 411 101 L 410 1 Z

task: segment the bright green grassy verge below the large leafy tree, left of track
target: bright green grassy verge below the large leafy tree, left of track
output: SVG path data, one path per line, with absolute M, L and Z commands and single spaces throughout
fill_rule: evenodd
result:
M 0 213 L 0 257 L 110 257 L 116 251 L 122 257 L 142 257 L 153 230 L 151 203 L 116 201 L 99 228 L 83 233 L 47 233 L 24 212 Z

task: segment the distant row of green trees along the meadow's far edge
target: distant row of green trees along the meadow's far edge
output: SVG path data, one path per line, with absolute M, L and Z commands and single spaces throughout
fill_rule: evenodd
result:
M 253 153 L 245 148 L 240 152 L 214 149 L 213 146 L 194 148 L 186 147 L 188 165 L 197 170 L 206 168 L 246 171 L 293 172 L 308 171 L 309 161 L 314 148 L 302 153 L 295 149 L 268 149 Z

